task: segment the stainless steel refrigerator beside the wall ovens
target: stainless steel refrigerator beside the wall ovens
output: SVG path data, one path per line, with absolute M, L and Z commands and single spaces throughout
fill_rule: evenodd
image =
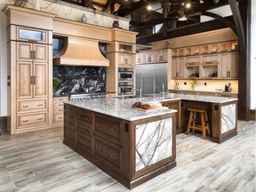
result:
M 142 94 L 167 90 L 168 63 L 140 64 L 136 65 L 136 88 L 142 90 Z M 138 93 L 137 93 L 138 94 Z

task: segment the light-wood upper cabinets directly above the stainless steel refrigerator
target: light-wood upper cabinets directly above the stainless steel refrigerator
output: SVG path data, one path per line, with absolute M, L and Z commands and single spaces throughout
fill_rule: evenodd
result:
M 167 49 L 148 52 L 137 52 L 136 64 L 167 62 Z

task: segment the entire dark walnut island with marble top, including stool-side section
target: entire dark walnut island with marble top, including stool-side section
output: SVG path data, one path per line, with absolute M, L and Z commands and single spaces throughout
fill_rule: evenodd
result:
M 221 143 L 237 134 L 237 99 L 152 95 L 142 101 L 158 100 L 168 108 L 151 112 L 132 109 L 138 100 L 76 100 L 64 106 L 64 143 L 126 188 L 176 166 L 176 133 L 187 130 L 187 108 L 208 110 L 207 140 Z

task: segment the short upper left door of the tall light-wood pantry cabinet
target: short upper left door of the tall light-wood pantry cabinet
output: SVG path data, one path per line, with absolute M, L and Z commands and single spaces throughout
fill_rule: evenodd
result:
M 17 60 L 32 61 L 33 44 L 17 43 Z

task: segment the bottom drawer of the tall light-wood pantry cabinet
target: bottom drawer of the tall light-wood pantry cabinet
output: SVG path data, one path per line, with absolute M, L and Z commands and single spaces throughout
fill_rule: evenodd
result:
M 30 127 L 47 124 L 46 113 L 36 114 L 36 115 L 27 115 L 27 116 L 18 116 L 18 127 Z

